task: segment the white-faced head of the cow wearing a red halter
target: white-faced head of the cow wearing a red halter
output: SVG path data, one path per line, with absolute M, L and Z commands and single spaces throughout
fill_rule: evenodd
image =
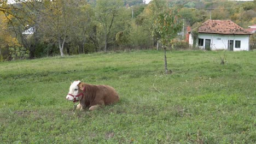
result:
M 68 95 L 66 97 L 67 100 L 73 101 L 75 103 L 84 97 L 83 89 L 79 87 L 80 83 L 80 81 L 74 81 L 71 83 Z

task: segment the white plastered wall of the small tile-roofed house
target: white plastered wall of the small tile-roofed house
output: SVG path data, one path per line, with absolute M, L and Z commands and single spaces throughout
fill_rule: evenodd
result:
M 204 34 L 199 33 L 199 39 L 203 39 L 203 46 L 199 46 L 201 49 L 205 49 L 205 40 L 211 40 L 211 50 L 229 50 L 229 40 L 234 42 L 233 51 L 248 51 L 249 50 L 249 35 L 225 35 L 225 34 Z M 240 48 L 236 48 L 236 41 L 240 41 Z M 189 44 L 193 45 L 193 39 L 191 34 L 189 36 Z M 196 41 L 198 46 L 198 41 Z M 239 43 L 239 42 L 238 42 Z

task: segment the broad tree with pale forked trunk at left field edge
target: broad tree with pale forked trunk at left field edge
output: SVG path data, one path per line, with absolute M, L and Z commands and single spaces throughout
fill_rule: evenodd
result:
M 44 41 L 53 40 L 57 44 L 61 57 L 64 56 L 65 45 L 71 42 L 76 33 L 73 30 L 80 25 L 76 11 L 83 4 L 85 3 L 82 0 L 43 1 L 44 8 L 39 21 L 40 33 Z M 66 48 L 69 53 L 69 47 Z

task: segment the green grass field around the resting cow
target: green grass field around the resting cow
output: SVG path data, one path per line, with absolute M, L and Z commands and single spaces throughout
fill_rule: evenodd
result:
M 132 51 L 0 63 L 0 143 L 255 143 L 256 51 Z M 75 111 L 80 80 L 121 98 Z

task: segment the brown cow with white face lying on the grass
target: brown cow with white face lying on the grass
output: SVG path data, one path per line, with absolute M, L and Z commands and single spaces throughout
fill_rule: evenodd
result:
M 78 102 L 77 109 L 95 110 L 101 105 L 110 105 L 119 101 L 118 93 L 113 87 L 107 85 L 90 85 L 74 81 L 69 87 L 67 100 Z

